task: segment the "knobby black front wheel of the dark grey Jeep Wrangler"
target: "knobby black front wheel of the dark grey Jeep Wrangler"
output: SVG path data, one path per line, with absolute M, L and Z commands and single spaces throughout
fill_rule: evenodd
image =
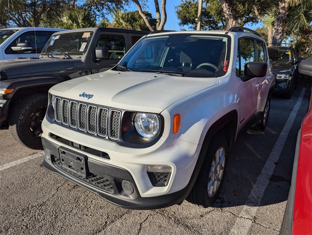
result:
M 48 96 L 28 96 L 11 107 L 9 130 L 14 139 L 31 149 L 43 149 L 41 123 L 46 114 Z

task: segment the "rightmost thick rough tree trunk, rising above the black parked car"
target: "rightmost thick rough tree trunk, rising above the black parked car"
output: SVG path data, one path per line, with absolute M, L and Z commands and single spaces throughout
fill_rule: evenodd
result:
M 279 46 L 283 41 L 289 2 L 290 0 L 281 0 L 278 4 L 278 12 L 276 13 L 272 38 L 274 46 Z

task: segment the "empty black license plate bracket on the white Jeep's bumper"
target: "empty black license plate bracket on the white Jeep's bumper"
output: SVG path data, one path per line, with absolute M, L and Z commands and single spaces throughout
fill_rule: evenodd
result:
M 80 153 L 73 153 L 70 149 L 62 147 L 59 148 L 59 155 L 62 167 L 80 176 L 87 176 L 89 172 L 87 156 Z

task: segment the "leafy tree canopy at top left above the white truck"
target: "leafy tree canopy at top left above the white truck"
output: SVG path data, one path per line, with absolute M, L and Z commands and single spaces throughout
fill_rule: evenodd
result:
M 77 15 L 81 17 L 86 15 L 82 12 L 89 12 L 90 22 L 93 22 L 96 17 L 104 18 L 110 8 L 123 9 L 128 3 L 129 0 L 0 0 L 0 23 L 53 27 L 57 17 L 62 18 L 71 11 L 79 11 Z

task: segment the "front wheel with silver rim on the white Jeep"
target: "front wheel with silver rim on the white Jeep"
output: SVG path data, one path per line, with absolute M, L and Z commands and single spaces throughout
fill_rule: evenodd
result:
M 214 203 L 220 193 L 227 166 L 228 143 L 223 135 L 212 137 L 197 180 L 186 198 L 202 208 Z

